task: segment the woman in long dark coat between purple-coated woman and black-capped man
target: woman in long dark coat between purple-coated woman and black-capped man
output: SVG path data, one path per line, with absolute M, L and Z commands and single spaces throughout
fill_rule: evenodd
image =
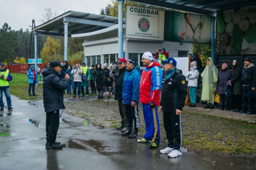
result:
M 241 105 L 241 99 L 242 99 L 242 88 L 243 88 L 243 82 L 241 80 L 242 78 L 242 67 L 241 62 L 239 60 L 234 60 L 232 63 L 232 78 L 230 82 L 232 83 L 232 90 L 233 90 L 233 100 L 234 105 L 236 106 L 233 112 L 239 112 L 240 111 L 240 105 Z

